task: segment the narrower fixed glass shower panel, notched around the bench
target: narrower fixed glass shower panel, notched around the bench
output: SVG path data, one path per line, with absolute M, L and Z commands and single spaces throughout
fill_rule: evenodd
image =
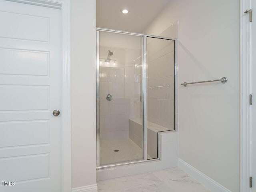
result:
M 158 132 L 174 130 L 174 40 L 147 38 L 147 152 L 158 158 Z

